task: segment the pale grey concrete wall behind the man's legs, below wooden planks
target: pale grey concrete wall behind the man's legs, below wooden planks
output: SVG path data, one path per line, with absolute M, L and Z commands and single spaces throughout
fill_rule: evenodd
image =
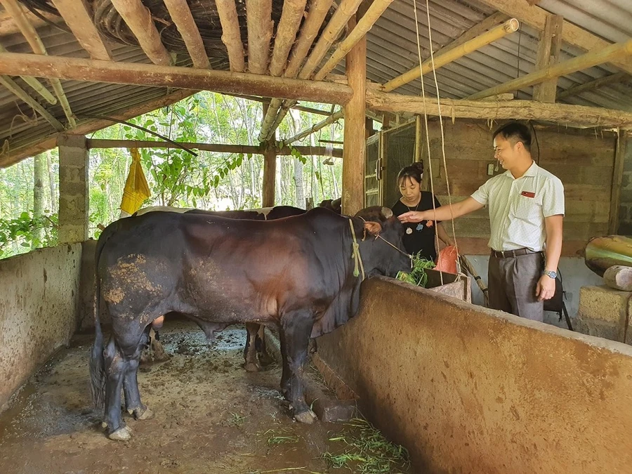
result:
M 489 263 L 489 256 L 468 255 L 467 258 L 487 287 L 487 264 Z M 571 321 L 574 322 L 579 310 L 579 290 L 586 285 L 603 284 L 603 278 L 591 270 L 588 270 L 586 263 L 584 263 L 584 258 L 580 257 L 562 257 L 559 268 L 562 273 L 564 291 L 566 291 L 566 309 Z M 474 279 L 472 279 L 472 303 L 475 305 L 483 305 L 482 291 L 480 291 Z M 562 318 L 561 322 L 558 321 L 558 315 L 553 312 L 545 313 L 544 322 L 555 324 L 559 327 L 567 327 L 565 320 Z

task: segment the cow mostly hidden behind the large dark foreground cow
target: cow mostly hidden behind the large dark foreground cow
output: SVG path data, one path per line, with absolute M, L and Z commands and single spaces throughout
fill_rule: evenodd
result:
M 327 207 L 327 209 L 334 210 Z M 132 214 L 132 217 L 142 216 L 148 212 L 179 212 L 179 213 L 198 213 L 206 214 L 209 216 L 220 216 L 231 219 L 251 219 L 251 220 L 275 220 L 284 217 L 298 216 L 305 213 L 305 209 L 299 209 L 293 206 L 274 206 L 264 207 L 262 209 L 246 209 L 243 211 L 205 211 L 204 209 L 188 209 L 177 208 L 170 206 L 154 206 L 140 209 L 136 213 Z M 338 211 L 338 213 L 340 213 Z M 103 236 L 103 235 L 102 235 Z M 107 237 L 107 236 L 106 236 Z M 150 331 L 150 345 L 154 352 L 156 360 L 166 360 L 168 356 L 164 353 L 162 344 L 158 342 L 157 329 L 162 327 L 164 318 L 159 318 L 154 321 L 154 331 Z M 263 324 L 246 323 L 246 345 L 244 347 L 244 369 L 249 372 L 256 372 L 262 369 L 261 364 L 266 365 L 272 362 L 272 359 L 268 355 L 268 351 L 265 348 L 265 327 Z M 152 334 L 153 333 L 153 334 Z M 146 357 L 146 355 L 143 355 Z M 143 358 L 141 358 L 143 360 Z M 261 364 L 260 364 L 261 362 Z

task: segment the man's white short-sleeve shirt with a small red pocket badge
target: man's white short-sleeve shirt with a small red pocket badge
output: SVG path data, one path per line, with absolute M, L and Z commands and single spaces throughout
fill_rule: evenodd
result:
M 543 251 L 544 218 L 564 214 L 562 181 L 535 162 L 518 179 L 511 171 L 494 176 L 472 197 L 489 209 L 489 246 L 499 251 L 525 247 Z

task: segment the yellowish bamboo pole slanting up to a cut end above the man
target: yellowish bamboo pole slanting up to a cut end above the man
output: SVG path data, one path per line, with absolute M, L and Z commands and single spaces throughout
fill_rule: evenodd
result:
M 506 37 L 508 34 L 515 32 L 519 26 L 520 24 L 518 23 L 518 20 L 516 20 L 515 18 L 511 18 L 510 20 L 504 22 L 502 25 L 498 25 L 497 27 L 490 29 L 488 32 L 485 32 L 478 37 L 470 39 L 469 41 L 466 41 L 459 46 L 454 46 L 454 48 L 450 48 L 445 53 L 435 55 L 435 70 L 447 65 L 449 62 L 452 62 L 459 58 L 463 58 L 463 56 L 476 51 L 482 46 Z M 428 74 L 428 72 L 432 70 L 433 61 L 428 58 L 421 63 L 421 68 L 419 67 L 419 65 L 413 67 L 412 70 L 404 72 L 404 74 L 402 74 L 401 76 L 395 77 L 395 79 L 391 79 L 390 81 L 388 81 L 386 84 L 383 85 L 382 89 L 385 92 L 393 91 L 396 88 L 403 86 L 404 84 L 408 84 L 415 79 L 419 79 L 419 77 L 423 76 L 423 74 Z

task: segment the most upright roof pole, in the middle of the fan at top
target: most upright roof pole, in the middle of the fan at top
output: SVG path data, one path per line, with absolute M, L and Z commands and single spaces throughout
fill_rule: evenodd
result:
M 248 25 L 248 70 L 253 74 L 268 72 L 272 39 L 272 0 L 246 0 Z

